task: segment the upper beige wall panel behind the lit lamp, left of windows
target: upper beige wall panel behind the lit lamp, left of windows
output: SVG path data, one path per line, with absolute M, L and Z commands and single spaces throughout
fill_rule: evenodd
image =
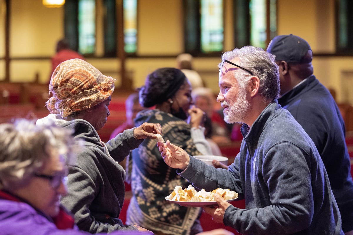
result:
M 47 8 L 42 1 L 12 0 L 10 56 L 50 56 L 63 34 L 63 8 Z

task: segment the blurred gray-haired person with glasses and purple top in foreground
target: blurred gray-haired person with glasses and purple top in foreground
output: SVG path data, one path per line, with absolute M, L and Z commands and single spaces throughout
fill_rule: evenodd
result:
M 67 165 L 74 159 L 75 143 L 70 131 L 55 125 L 21 119 L 0 125 L 1 234 L 78 230 L 59 204 L 67 192 Z

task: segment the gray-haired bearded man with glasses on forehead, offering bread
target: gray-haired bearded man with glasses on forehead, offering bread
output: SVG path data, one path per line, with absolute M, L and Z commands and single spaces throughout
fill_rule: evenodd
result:
M 252 46 L 227 51 L 219 64 L 217 97 L 228 123 L 244 123 L 240 153 L 216 169 L 167 141 L 164 161 L 195 187 L 229 188 L 245 209 L 214 198 L 204 211 L 243 234 L 343 235 L 341 216 L 321 157 L 299 123 L 277 102 L 279 70 L 274 56 Z

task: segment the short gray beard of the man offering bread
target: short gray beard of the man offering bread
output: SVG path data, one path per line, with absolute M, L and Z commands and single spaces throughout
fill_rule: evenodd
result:
M 250 109 L 251 104 L 246 100 L 245 89 L 240 89 L 238 97 L 233 104 L 223 101 L 222 104 L 228 105 L 227 113 L 224 113 L 226 123 L 244 123 L 244 117 Z

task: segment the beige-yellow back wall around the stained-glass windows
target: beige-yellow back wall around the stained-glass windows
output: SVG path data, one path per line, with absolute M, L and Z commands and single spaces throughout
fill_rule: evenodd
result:
M 323 57 L 319 53 L 335 53 L 335 0 L 277 0 L 277 32 L 293 33 L 306 39 L 314 52 L 314 73 L 328 88 L 337 91 L 337 100 L 353 100 L 353 94 L 344 89 L 353 74 L 353 57 Z M 11 81 L 34 81 L 39 74 L 40 82 L 47 82 L 50 61 L 55 44 L 63 35 L 63 8 L 46 8 L 42 1 L 11 0 L 10 26 L 10 75 Z M 182 0 L 139 0 L 138 6 L 138 56 L 127 58 L 126 69 L 133 76 L 133 87 L 144 84 L 148 73 L 159 67 L 175 67 L 174 56 L 183 52 Z M 233 44 L 232 0 L 225 0 L 225 49 Z M 97 0 L 97 11 L 102 12 L 102 0 Z M 0 58 L 4 48 L 4 0 L 0 0 Z M 102 19 L 97 19 L 97 53 L 103 53 Z M 221 55 L 221 54 L 220 54 Z M 154 57 L 155 56 L 155 57 Z M 172 56 L 163 58 L 161 56 Z M 20 60 L 26 57 L 42 57 L 36 60 Z M 43 58 L 44 57 L 44 58 Z M 88 62 L 103 73 L 117 78 L 119 87 L 119 59 L 89 58 Z M 220 57 L 195 58 L 195 69 L 202 73 L 207 85 L 218 93 L 217 64 Z M 0 80 L 5 78 L 5 63 L 0 59 Z M 352 72 L 352 73 L 351 73 Z M 347 97 L 348 96 L 348 97 Z

